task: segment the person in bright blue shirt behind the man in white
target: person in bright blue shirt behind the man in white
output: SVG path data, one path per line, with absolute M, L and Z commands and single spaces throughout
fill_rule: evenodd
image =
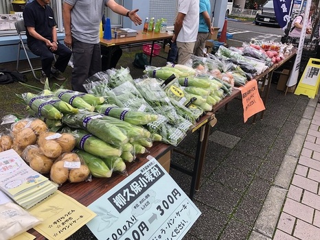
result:
M 194 55 L 203 57 L 205 56 L 205 41 L 209 39 L 210 34 L 214 34 L 214 27 L 209 15 L 211 12 L 211 5 L 209 0 L 199 1 L 199 29 L 194 45 Z

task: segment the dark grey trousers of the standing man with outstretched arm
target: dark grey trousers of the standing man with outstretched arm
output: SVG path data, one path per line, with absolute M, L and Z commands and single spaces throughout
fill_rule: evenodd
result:
M 71 86 L 73 91 L 86 93 L 83 84 L 88 77 L 101 71 L 100 43 L 82 43 L 72 38 L 73 71 Z

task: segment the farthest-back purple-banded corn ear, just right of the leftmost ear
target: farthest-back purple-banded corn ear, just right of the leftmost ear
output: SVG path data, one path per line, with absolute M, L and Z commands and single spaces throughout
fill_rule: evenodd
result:
M 81 95 L 84 95 L 85 93 L 77 93 L 73 92 L 71 90 L 64 90 L 64 89 L 59 89 L 54 93 L 56 97 L 61 99 L 62 101 L 66 101 L 68 104 L 71 104 L 71 106 L 75 108 L 80 108 L 80 109 L 87 109 L 91 112 L 95 110 L 95 107 L 88 104 L 87 101 L 84 101 Z

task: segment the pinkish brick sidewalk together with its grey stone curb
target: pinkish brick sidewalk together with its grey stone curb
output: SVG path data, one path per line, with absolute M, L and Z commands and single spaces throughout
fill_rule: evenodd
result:
M 319 95 L 309 101 L 250 240 L 320 239 L 318 99 Z

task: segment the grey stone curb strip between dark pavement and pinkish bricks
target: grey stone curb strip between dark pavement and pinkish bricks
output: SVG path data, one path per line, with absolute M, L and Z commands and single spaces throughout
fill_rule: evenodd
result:
M 282 212 L 282 207 L 286 200 L 286 194 L 288 193 L 290 183 L 295 173 L 295 168 L 297 167 L 301 149 L 304 146 L 312 117 L 315 114 L 317 99 L 319 99 L 319 95 L 317 95 L 315 99 L 310 99 L 308 102 L 308 106 L 297 127 L 295 136 L 293 136 L 293 140 L 288 147 L 286 156 L 284 156 L 282 165 L 277 172 L 277 176 L 275 176 L 273 186 L 269 190 L 260 214 L 255 221 L 255 226 L 253 227 L 253 232 L 251 232 L 249 240 L 273 239 L 277 221 Z

